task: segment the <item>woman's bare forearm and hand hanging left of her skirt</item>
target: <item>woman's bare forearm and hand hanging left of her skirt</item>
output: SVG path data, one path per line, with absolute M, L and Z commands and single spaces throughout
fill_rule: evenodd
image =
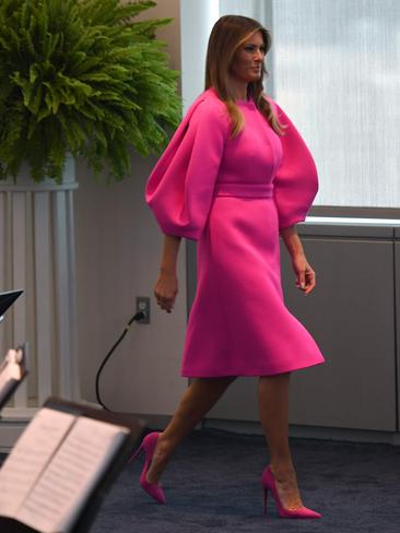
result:
M 176 263 L 179 252 L 180 237 L 164 236 L 163 256 L 160 274 L 154 287 L 154 296 L 162 309 L 170 312 L 176 295 L 178 294 L 178 280 L 176 277 Z

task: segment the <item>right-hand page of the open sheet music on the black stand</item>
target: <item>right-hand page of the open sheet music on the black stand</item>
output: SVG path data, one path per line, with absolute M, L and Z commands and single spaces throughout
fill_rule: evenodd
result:
M 69 532 L 129 429 L 80 417 L 16 513 L 44 533 Z

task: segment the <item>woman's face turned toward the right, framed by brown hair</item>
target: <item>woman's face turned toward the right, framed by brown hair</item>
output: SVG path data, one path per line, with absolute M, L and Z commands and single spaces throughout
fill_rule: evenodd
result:
M 250 83 L 262 75 L 262 63 L 266 57 L 266 46 L 261 32 L 256 32 L 236 50 L 231 73 L 242 82 Z

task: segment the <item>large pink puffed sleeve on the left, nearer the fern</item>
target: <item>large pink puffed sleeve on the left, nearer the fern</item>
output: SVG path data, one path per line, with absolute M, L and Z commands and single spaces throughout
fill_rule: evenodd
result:
M 200 238 L 228 133 L 220 100 L 200 98 L 189 108 L 145 188 L 145 201 L 164 234 Z

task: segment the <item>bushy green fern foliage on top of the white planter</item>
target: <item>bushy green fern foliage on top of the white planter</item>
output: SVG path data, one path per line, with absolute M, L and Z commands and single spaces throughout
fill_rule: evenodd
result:
M 176 127 L 177 71 L 157 27 L 134 21 L 153 1 L 0 0 L 0 179 L 27 161 L 60 182 L 66 153 L 122 179 L 129 149 L 160 152 Z

